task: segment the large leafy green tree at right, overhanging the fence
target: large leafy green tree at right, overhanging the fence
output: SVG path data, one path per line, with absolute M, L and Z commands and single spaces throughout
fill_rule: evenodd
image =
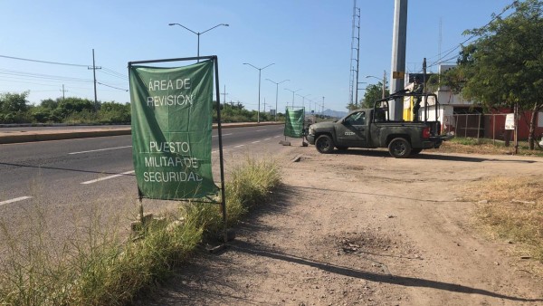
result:
M 462 47 L 447 85 L 487 108 L 531 110 L 529 148 L 534 148 L 538 111 L 543 109 L 543 1 L 515 1 L 505 18 L 464 32 L 479 38 Z M 447 81 L 447 80 L 445 80 Z

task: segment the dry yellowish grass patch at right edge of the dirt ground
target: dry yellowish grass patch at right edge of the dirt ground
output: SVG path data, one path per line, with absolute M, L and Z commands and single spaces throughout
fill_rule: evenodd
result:
M 478 204 L 476 219 L 519 255 L 543 263 L 543 176 L 497 177 L 466 190 Z

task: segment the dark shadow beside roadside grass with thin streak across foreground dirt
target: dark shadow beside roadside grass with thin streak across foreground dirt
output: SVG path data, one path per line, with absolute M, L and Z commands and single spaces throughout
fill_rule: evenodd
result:
M 271 214 L 281 214 L 289 206 L 289 199 L 300 196 L 300 187 L 281 186 L 281 193 L 275 193 L 270 204 L 257 206 L 245 218 L 240 226 L 235 228 L 237 233 L 254 233 L 271 231 L 271 228 L 258 222 L 259 217 Z M 225 253 L 231 256 L 224 256 Z M 271 250 L 257 243 L 234 240 L 226 245 L 220 253 L 207 253 L 200 249 L 193 260 L 186 266 L 178 269 L 170 282 L 164 287 L 158 287 L 153 292 L 144 292 L 134 305 L 205 305 L 213 304 L 254 304 L 243 292 L 247 292 L 247 283 L 231 282 L 230 280 L 243 279 L 245 273 L 254 273 L 252 267 L 235 266 L 233 259 L 240 255 L 249 254 L 255 256 L 254 264 L 262 263 L 258 257 L 275 261 L 288 262 L 317 268 L 327 273 L 352 277 L 371 282 L 383 282 L 405 287 L 424 287 L 436 290 L 459 292 L 464 294 L 480 294 L 492 298 L 508 301 L 540 302 L 543 299 L 525 299 L 516 296 L 490 292 L 487 290 L 463 286 L 450 282 L 438 282 L 423 278 L 391 275 L 388 273 L 372 273 L 332 263 L 319 262 L 313 259 L 303 258 L 290 253 L 281 253 Z M 248 294 L 247 296 L 250 296 Z

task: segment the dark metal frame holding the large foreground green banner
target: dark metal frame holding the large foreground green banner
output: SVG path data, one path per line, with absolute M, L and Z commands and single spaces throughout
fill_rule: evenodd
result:
M 221 95 L 219 92 L 219 62 L 216 55 L 210 55 L 210 56 L 198 56 L 198 57 L 185 57 L 185 58 L 175 58 L 175 59 L 163 59 L 163 60 L 150 60 L 150 61 L 138 61 L 138 62 L 129 62 L 129 69 L 132 65 L 135 64 L 145 64 L 145 63 L 153 63 L 153 62 L 186 62 L 186 61 L 200 61 L 200 60 L 211 60 L 214 63 L 214 81 L 215 81 L 215 99 L 217 103 L 217 132 L 219 137 L 219 164 L 221 168 L 221 202 L 215 202 L 210 199 L 210 201 L 199 201 L 199 200 L 192 200 L 192 199 L 176 199 L 179 201 L 191 201 L 196 203 L 210 203 L 210 204 L 220 204 L 221 205 L 221 211 L 223 213 L 223 223 L 224 223 L 224 244 L 228 241 L 228 234 L 227 234 L 227 225 L 226 225 L 226 198 L 224 194 L 224 158 L 223 158 L 223 129 L 221 125 Z M 141 193 L 141 190 L 139 190 L 138 186 L 138 203 L 139 203 L 139 217 L 140 221 L 143 223 L 143 194 Z

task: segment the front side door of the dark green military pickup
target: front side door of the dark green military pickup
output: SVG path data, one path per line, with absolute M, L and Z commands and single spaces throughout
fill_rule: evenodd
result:
M 367 114 L 360 110 L 351 113 L 336 126 L 338 146 L 367 148 Z

